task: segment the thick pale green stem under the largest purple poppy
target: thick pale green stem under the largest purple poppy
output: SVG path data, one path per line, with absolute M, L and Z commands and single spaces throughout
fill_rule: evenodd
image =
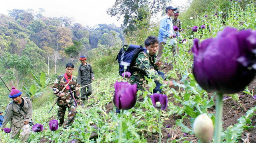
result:
M 215 119 L 215 135 L 214 142 L 221 143 L 221 131 L 222 131 L 222 110 L 223 110 L 223 94 L 216 94 L 216 119 Z

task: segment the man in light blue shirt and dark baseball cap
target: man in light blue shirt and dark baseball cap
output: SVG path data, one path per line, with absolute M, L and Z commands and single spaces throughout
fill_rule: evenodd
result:
M 173 30 L 173 24 L 171 16 L 173 16 L 174 11 L 177 10 L 177 8 L 173 8 L 172 6 L 167 6 L 165 9 L 166 16 L 162 18 L 160 21 L 160 28 L 159 28 L 159 44 L 158 44 L 158 54 L 156 57 L 156 62 L 160 61 L 164 49 L 164 45 L 166 44 L 167 38 L 171 38 L 174 34 Z M 172 45 L 172 41 L 170 43 Z

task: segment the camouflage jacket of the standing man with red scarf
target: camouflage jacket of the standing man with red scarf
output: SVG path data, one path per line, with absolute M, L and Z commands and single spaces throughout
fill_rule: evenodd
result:
M 57 97 L 60 96 L 61 90 L 64 88 L 65 85 L 66 85 L 66 79 L 64 77 L 64 74 L 61 74 L 56 78 L 56 80 L 54 82 L 54 85 L 52 87 L 53 93 Z M 72 76 L 72 80 L 69 82 L 69 86 L 70 86 L 71 91 L 76 90 L 78 88 L 76 76 Z M 70 92 L 70 91 L 66 90 L 66 89 L 63 90 L 63 93 L 67 93 L 67 92 Z M 76 90 L 76 91 L 72 92 L 72 94 L 73 94 L 76 102 L 80 103 L 81 102 L 80 91 Z M 72 98 L 70 93 L 61 98 L 58 98 L 57 105 L 65 105 L 65 104 L 68 104 L 69 107 L 71 105 L 75 104 L 74 99 Z

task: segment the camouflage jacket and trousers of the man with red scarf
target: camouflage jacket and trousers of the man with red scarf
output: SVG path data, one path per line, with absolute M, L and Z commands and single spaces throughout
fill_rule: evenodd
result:
M 64 74 L 58 76 L 58 78 L 55 80 L 54 85 L 53 85 L 53 93 L 56 96 L 60 95 L 61 90 L 64 88 L 66 85 L 66 79 L 64 77 Z M 78 83 L 76 80 L 76 76 L 72 76 L 71 81 L 69 82 L 69 87 L 71 91 L 76 90 L 78 88 Z M 70 90 L 64 89 L 63 93 L 67 93 Z M 76 103 L 81 102 L 81 97 L 80 97 L 80 92 L 79 90 L 76 90 L 72 92 L 73 96 L 69 93 L 61 98 L 58 98 L 57 105 L 59 106 L 58 108 L 58 119 L 60 120 L 59 126 L 62 126 L 64 124 L 64 127 L 68 127 L 71 125 L 75 119 L 76 116 Z M 64 122 L 64 116 L 66 112 L 66 108 L 68 108 L 68 119 Z

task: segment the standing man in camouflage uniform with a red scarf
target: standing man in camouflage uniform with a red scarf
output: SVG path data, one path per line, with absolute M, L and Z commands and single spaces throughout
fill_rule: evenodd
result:
M 78 83 L 76 80 L 76 76 L 72 75 L 72 72 L 74 71 L 74 65 L 72 63 L 68 63 L 66 65 L 66 73 L 61 74 L 58 76 L 58 78 L 55 80 L 53 85 L 53 93 L 59 97 L 57 105 L 58 108 L 58 119 L 60 120 L 59 126 L 62 126 L 64 128 L 70 126 L 76 116 L 76 107 L 77 105 L 81 104 L 81 97 L 80 92 L 78 89 Z M 64 86 L 67 84 L 66 88 L 62 91 Z M 65 93 L 76 90 L 74 92 L 71 92 L 67 95 Z M 66 108 L 68 108 L 68 119 L 64 122 L 64 116 L 66 112 Z

